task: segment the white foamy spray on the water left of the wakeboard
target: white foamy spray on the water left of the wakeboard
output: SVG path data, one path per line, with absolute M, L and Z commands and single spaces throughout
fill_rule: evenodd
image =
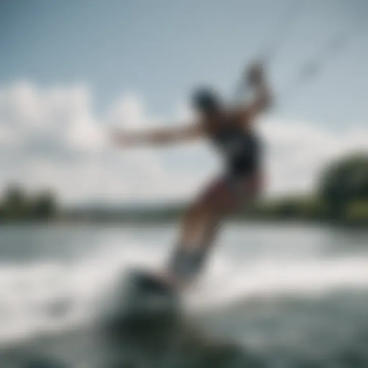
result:
M 0 264 L 0 343 L 87 323 L 124 269 L 157 261 L 158 254 L 130 243 L 74 263 Z

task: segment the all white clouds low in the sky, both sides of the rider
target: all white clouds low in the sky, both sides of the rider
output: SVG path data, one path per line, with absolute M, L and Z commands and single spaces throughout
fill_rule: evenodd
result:
M 191 112 L 178 105 L 176 115 L 185 120 Z M 137 96 L 123 96 L 98 118 L 86 86 L 0 87 L 0 186 L 16 180 L 52 187 L 67 202 L 189 197 L 219 167 L 206 145 L 120 151 L 108 144 L 111 126 L 142 129 L 160 121 L 148 116 Z M 311 190 L 332 157 L 368 148 L 368 129 L 358 125 L 338 132 L 267 118 L 259 127 L 268 193 Z

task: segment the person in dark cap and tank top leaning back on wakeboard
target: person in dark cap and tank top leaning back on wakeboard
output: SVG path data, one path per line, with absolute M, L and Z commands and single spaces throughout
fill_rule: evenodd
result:
M 192 98 L 195 121 L 172 128 L 113 132 L 113 142 L 121 147 L 208 139 L 224 158 L 223 173 L 200 192 L 182 219 L 179 239 L 161 275 L 179 290 L 198 276 L 226 217 L 262 190 L 262 145 L 254 125 L 271 103 L 263 66 L 247 67 L 243 83 L 254 90 L 254 98 L 240 106 L 225 106 L 212 88 L 198 88 Z

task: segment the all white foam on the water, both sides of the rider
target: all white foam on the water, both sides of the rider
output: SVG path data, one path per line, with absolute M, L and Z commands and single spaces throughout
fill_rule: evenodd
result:
M 132 264 L 156 267 L 160 250 L 130 242 L 100 248 L 73 263 L 0 265 L 0 343 L 88 323 L 106 289 Z M 209 308 L 247 296 L 308 294 L 368 286 L 368 258 L 264 258 L 234 262 L 215 256 L 189 305 Z

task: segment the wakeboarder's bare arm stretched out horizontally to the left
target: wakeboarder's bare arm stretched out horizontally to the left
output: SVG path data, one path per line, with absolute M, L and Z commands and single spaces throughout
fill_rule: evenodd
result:
M 119 130 L 112 133 L 112 140 L 119 146 L 166 145 L 191 141 L 202 136 L 199 124 L 179 127 L 156 128 L 144 131 Z

